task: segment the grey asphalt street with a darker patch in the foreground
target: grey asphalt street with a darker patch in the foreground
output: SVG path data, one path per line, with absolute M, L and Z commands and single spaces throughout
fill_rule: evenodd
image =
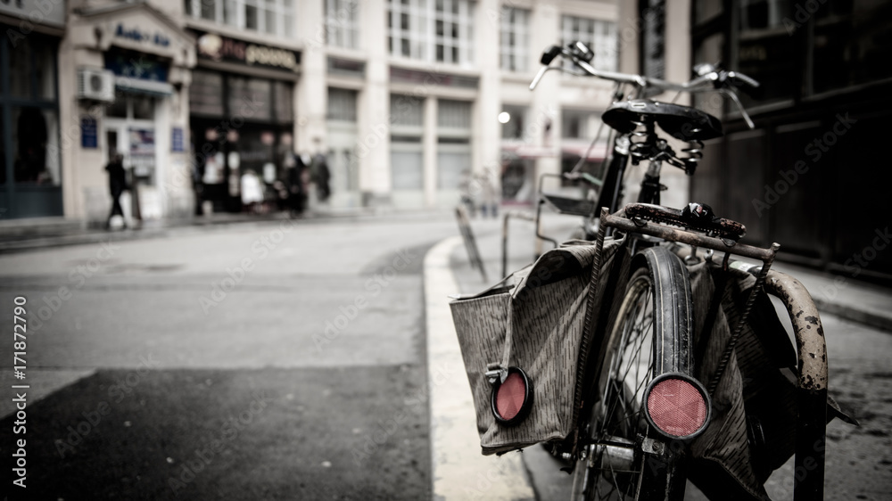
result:
M 474 227 L 494 281 L 500 221 Z M 510 267 L 531 228 L 512 229 Z M 0 371 L 4 455 L 27 439 L 29 499 L 430 498 L 422 271 L 455 234 L 449 214 L 283 220 L 0 255 L 4 323 L 20 296 L 29 323 L 24 379 L 11 354 Z M 462 247 L 451 263 L 462 292 L 488 286 Z M 892 336 L 822 320 L 830 393 L 861 420 L 830 424 L 826 498 L 886 499 Z M 538 499 L 566 497 L 541 448 L 522 458 Z

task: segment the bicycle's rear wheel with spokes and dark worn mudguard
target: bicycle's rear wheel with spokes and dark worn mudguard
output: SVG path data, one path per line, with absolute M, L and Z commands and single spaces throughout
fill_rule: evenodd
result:
M 644 250 L 637 259 L 615 322 L 607 331 L 605 355 L 596 365 L 600 397 L 582 426 L 574 501 L 684 497 L 684 451 L 677 447 L 681 442 L 673 442 L 676 447 L 665 448 L 661 455 L 642 450 L 643 439 L 656 436 L 643 399 L 658 375 L 690 374 L 690 281 L 687 269 L 663 247 Z M 621 412 L 629 409 L 632 412 Z M 627 447 L 603 448 L 606 443 Z M 631 468 L 615 469 L 617 463 Z

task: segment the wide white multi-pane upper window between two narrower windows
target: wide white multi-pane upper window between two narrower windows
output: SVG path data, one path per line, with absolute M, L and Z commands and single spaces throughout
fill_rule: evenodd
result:
M 388 0 L 390 53 L 429 62 L 474 60 L 474 3 L 468 0 Z

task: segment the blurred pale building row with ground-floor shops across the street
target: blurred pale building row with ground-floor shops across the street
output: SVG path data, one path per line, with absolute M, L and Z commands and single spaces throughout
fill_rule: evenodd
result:
M 616 70 L 614 2 L 51 4 L 40 22 L 37 4 L 0 7 L 22 34 L 0 58 L 4 218 L 103 222 L 116 152 L 144 220 L 240 210 L 239 178 L 273 185 L 292 153 L 326 156 L 331 207 L 396 209 L 450 207 L 481 185 L 528 203 L 542 173 L 603 156 L 588 145 L 607 83 L 528 86 L 543 49 L 576 39 Z

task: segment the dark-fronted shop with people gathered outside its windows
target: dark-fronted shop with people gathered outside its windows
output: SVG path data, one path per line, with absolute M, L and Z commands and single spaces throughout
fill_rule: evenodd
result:
M 293 152 L 294 85 L 301 54 L 194 31 L 198 68 L 190 86 L 189 127 L 199 201 L 215 211 L 243 209 L 241 179 L 253 173 L 275 201 Z M 199 209 L 196 207 L 196 209 Z

